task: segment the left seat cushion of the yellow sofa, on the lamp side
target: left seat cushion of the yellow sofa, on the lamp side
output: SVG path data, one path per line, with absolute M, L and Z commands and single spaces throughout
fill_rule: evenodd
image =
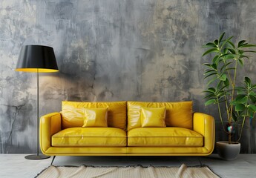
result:
M 66 128 L 52 136 L 56 147 L 125 147 L 126 132 L 120 128 Z

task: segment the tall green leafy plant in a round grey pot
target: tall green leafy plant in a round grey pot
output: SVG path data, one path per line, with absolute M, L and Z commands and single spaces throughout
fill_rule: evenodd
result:
M 249 77 L 240 78 L 244 61 L 249 60 L 248 53 L 256 53 L 245 40 L 234 44 L 233 36 L 209 42 L 203 56 L 208 56 L 205 64 L 204 79 L 207 80 L 205 105 L 217 105 L 223 131 L 228 135 L 228 142 L 217 142 L 217 152 L 223 159 L 236 159 L 240 153 L 239 140 L 243 133 L 246 119 L 254 118 L 256 112 L 256 85 Z M 237 138 L 234 138 L 236 137 Z M 233 141 L 233 142 L 232 142 Z

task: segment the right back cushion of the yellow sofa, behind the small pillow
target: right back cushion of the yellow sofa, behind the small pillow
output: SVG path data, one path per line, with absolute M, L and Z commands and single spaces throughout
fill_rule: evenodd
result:
M 140 110 L 146 108 L 165 107 L 165 124 L 167 127 L 192 129 L 192 102 L 127 102 L 128 131 L 140 128 Z

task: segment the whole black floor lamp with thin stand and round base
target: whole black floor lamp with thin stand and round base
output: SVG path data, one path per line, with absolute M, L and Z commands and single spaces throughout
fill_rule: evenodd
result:
M 39 73 L 58 72 L 53 47 L 25 45 L 19 53 L 16 71 L 36 73 L 37 76 L 37 154 L 25 156 L 26 159 L 47 159 L 50 156 L 39 154 Z

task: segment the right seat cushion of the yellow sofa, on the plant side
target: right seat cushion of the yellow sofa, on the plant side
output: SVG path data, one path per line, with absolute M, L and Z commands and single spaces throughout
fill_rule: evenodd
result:
M 203 136 L 187 128 L 134 128 L 128 131 L 128 146 L 201 147 Z

